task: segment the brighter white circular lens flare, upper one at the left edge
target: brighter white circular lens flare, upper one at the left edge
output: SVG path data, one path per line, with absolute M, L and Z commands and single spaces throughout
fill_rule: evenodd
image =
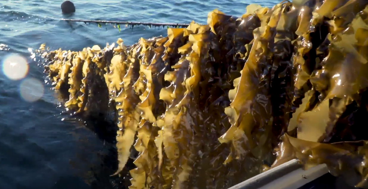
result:
M 24 78 L 28 73 L 27 60 L 18 54 L 5 57 L 2 64 L 3 73 L 11 80 Z

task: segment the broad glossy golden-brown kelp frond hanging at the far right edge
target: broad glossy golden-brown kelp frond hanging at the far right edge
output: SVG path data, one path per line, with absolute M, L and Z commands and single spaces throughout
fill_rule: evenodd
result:
M 359 93 L 368 87 L 367 59 L 362 53 L 367 44 L 364 44 L 365 40 L 359 40 L 360 31 L 368 27 L 363 20 L 366 10 L 357 14 L 342 32 L 326 36 L 330 42 L 326 49 L 328 54 L 315 64 L 317 69 L 310 78 L 314 90 L 309 107 L 298 115 L 299 139 L 329 142 L 347 105 L 359 101 Z

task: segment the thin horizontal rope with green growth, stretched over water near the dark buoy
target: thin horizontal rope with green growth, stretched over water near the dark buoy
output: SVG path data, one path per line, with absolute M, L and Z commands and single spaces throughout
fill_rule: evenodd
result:
M 188 27 L 189 24 L 174 24 L 174 23 L 153 23 L 153 22 L 127 22 L 127 21 L 105 21 L 105 20 L 78 20 L 78 19 L 61 19 L 62 21 L 68 22 L 84 22 L 86 23 L 105 23 L 105 24 L 125 24 L 125 25 L 144 25 L 150 27 L 160 27 L 160 26 L 172 26 L 172 27 Z

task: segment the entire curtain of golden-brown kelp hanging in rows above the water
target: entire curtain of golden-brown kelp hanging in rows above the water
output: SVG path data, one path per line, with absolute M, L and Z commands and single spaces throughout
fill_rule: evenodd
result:
M 43 56 L 68 109 L 116 110 L 116 174 L 139 152 L 130 188 L 228 188 L 290 158 L 349 167 L 367 188 L 367 4 L 215 10 L 167 37 Z

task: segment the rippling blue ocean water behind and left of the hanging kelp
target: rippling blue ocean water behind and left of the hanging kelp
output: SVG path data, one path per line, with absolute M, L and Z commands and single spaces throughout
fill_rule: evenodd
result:
M 0 189 L 123 188 L 116 170 L 114 132 L 101 120 L 72 121 L 63 114 L 43 68 L 29 52 L 81 50 L 95 44 L 166 35 L 166 29 L 67 23 L 60 18 L 206 23 L 219 9 L 240 16 L 248 4 L 272 7 L 276 0 L 74 0 L 76 13 L 61 14 L 61 0 L 0 0 Z M 16 73 L 3 64 L 24 63 Z M 122 181 L 123 180 L 123 181 Z

